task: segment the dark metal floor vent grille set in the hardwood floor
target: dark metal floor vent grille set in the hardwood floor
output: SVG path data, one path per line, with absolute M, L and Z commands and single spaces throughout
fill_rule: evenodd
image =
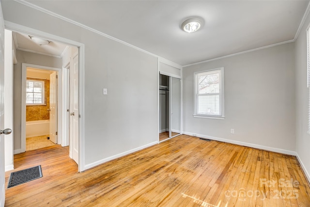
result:
M 41 165 L 11 173 L 8 188 L 42 177 Z

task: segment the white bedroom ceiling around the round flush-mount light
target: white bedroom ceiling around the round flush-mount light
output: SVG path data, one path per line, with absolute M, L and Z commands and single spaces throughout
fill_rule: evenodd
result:
M 292 41 L 307 0 L 29 0 L 180 65 Z M 68 9 L 71 8 L 71 9 Z M 204 26 L 180 25 L 201 16 Z

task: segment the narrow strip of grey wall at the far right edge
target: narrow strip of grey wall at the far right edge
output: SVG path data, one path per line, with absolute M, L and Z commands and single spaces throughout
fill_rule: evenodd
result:
M 310 180 L 310 135 L 308 130 L 309 88 L 307 88 L 307 34 L 308 15 L 295 42 L 295 96 L 296 96 L 296 152 L 299 162 Z

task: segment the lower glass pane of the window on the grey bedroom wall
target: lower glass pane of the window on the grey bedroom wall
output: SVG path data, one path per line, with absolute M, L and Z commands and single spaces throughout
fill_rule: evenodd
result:
M 198 96 L 198 113 L 219 115 L 219 95 Z

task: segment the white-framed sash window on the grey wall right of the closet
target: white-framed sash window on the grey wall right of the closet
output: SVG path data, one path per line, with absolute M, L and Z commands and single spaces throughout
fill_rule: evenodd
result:
M 194 74 L 194 117 L 224 119 L 224 68 Z

